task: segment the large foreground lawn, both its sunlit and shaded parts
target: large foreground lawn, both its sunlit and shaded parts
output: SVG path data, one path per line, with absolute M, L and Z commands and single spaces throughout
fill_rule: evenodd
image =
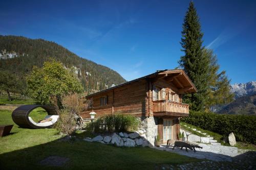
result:
M 40 114 L 36 114 L 40 113 Z M 40 119 L 39 108 L 33 118 Z M 11 111 L 0 110 L 0 124 L 14 124 Z M 152 148 L 124 148 L 81 140 L 61 141 L 55 129 L 22 129 L 0 138 L 0 169 L 154 169 L 160 164 L 202 161 Z M 49 156 L 69 158 L 62 167 L 41 165 Z

